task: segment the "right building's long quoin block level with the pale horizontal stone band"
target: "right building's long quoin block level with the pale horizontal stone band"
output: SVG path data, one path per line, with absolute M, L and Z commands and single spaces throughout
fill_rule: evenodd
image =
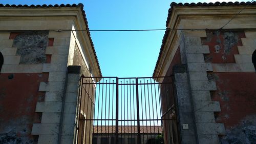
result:
M 211 63 L 187 63 L 189 71 L 212 71 Z

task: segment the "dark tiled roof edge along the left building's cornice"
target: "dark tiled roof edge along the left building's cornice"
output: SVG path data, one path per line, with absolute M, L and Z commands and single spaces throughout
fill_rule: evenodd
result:
M 94 53 L 94 56 L 95 56 L 95 59 L 96 59 L 96 62 L 97 62 L 97 66 L 98 66 L 98 69 L 99 69 L 99 73 L 100 73 L 100 76 L 102 76 L 101 74 L 101 70 L 100 70 L 100 66 L 99 66 L 99 61 L 98 61 L 98 58 L 97 58 L 97 55 L 96 55 L 96 51 L 95 51 L 95 48 L 94 48 L 94 45 L 93 45 L 93 41 L 92 41 L 92 38 L 91 38 L 91 34 L 90 34 L 90 31 L 89 31 L 89 27 L 88 27 L 88 22 L 87 22 L 87 18 L 86 18 L 86 12 L 83 10 L 83 4 L 79 3 L 79 4 L 73 4 L 73 5 L 70 5 L 70 4 L 67 4 L 67 5 L 64 5 L 64 4 L 61 4 L 61 5 L 3 5 L 3 4 L 0 4 L 0 8 L 69 8 L 69 7 L 75 7 L 75 8 L 80 8 L 81 11 L 82 11 L 82 15 L 83 15 L 83 20 L 84 20 L 84 23 L 86 24 L 86 27 L 87 27 L 87 33 L 88 33 L 88 36 L 89 36 L 89 39 L 90 39 L 90 43 L 92 45 L 92 48 L 93 48 L 93 53 Z

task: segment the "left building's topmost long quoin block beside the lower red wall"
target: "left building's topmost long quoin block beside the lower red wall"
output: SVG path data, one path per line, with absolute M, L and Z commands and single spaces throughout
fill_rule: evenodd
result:
M 41 82 L 38 91 L 39 92 L 63 91 L 64 85 L 65 85 L 64 81 Z

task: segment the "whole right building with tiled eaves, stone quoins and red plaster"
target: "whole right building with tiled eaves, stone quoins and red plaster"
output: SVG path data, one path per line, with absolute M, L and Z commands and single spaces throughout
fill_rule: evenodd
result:
M 170 5 L 153 74 L 174 76 L 175 94 L 161 91 L 178 119 L 166 143 L 255 143 L 255 5 Z

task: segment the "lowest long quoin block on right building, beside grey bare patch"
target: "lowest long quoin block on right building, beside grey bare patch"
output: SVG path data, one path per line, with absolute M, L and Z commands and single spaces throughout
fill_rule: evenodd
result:
M 222 123 L 197 123 L 198 135 L 225 134 L 224 124 Z

